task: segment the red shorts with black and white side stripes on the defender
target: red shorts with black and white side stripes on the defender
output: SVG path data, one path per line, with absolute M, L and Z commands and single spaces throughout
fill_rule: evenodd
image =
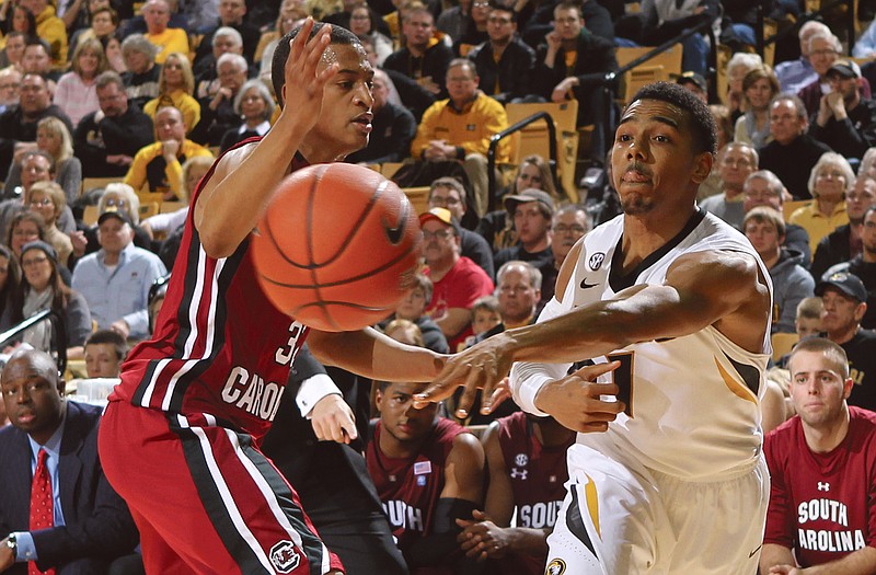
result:
M 111 402 L 101 422 L 101 463 L 140 530 L 147 573 L 342 570 L 252 438 L 198 419 Z

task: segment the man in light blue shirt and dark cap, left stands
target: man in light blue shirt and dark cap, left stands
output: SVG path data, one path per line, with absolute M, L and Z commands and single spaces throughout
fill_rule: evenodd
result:
M 77 263 L 72 287 L 85 297 L 97 327 L 146 337 L 149 288 L 168 271 L 155 254 L 132 244 L 132 225 L 124 211 L 104 211 L 97 226 L 101 249 Z

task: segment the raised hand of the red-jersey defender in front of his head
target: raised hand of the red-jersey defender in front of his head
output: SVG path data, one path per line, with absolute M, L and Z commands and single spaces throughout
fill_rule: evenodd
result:
M 332 62 L 320 70 L 325 48 L 331 44 L 331 24 L 325 24 L 311 39 L 313 19 L 308 16 L 298 35 L 289 44 L 289 58 L 286 60 L 286 102 L 293 105 L 284 106 L 284 113 L 295 115 L 296 123 L 304 131 L 310 131 L 322 113 L 322 100 L 325 84 L 339 69 Z

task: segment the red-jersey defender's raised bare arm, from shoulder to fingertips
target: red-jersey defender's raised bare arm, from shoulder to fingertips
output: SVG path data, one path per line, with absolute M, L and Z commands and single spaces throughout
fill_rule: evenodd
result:
M 326 25 L 310 41 L 313 20 L 304 22 L 290 44 L 286 61 L 286 102 L 277 123 L 258 142 L 226 153 L 216 166 L 195 205 L 195 227 L 208 255 L 226 257 L 255 228 L 277 184 L 304 136 L 322 110 L 327 81 L 337 73 L 337 64 L 320 67 L 330 43 Z

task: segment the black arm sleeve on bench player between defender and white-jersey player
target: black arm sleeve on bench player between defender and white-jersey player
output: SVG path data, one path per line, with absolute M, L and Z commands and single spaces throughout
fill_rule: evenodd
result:
M 453 573 L 458 575 L 480 573 L 481 566 L 465 557 L 457 543 L 457 536 L 462 532 L 457 519 L 471 519 L 477 504 L 466 499 L 438 499 L 431 520 L 431 534 L 418 539 L 404 553 L 408 568 L 448 565 L 456 567 Z

